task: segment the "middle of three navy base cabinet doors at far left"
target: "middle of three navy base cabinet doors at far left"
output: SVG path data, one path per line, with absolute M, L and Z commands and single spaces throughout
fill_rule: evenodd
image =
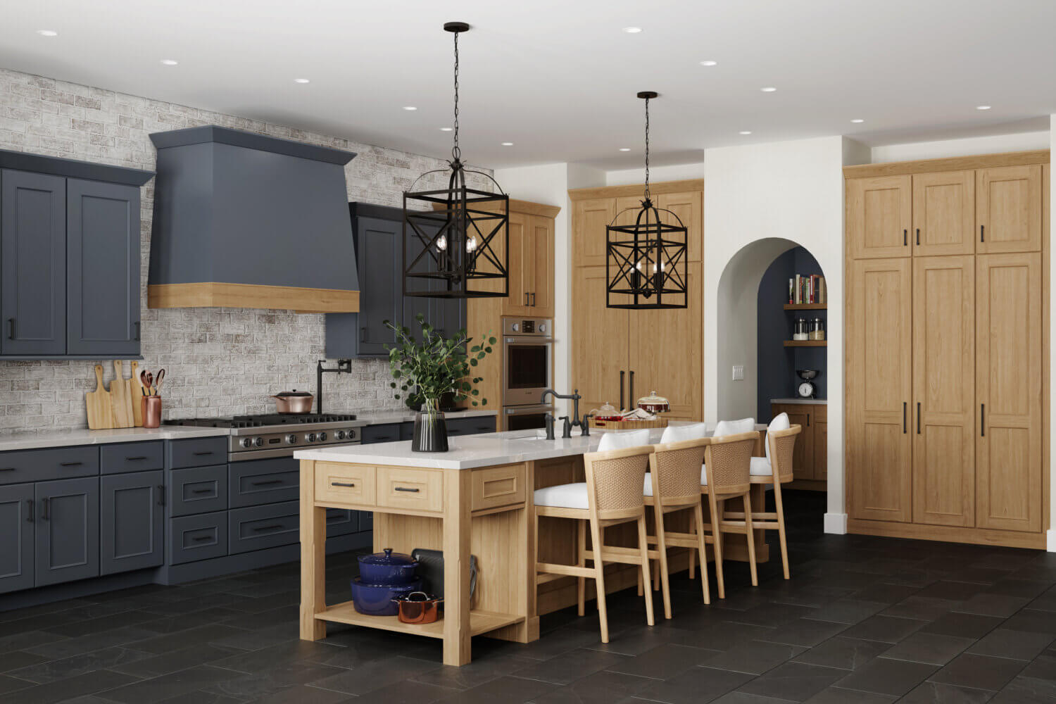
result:
M 36 484 L 35 584 L 99 574 L 99 479 L 59 479 Z

